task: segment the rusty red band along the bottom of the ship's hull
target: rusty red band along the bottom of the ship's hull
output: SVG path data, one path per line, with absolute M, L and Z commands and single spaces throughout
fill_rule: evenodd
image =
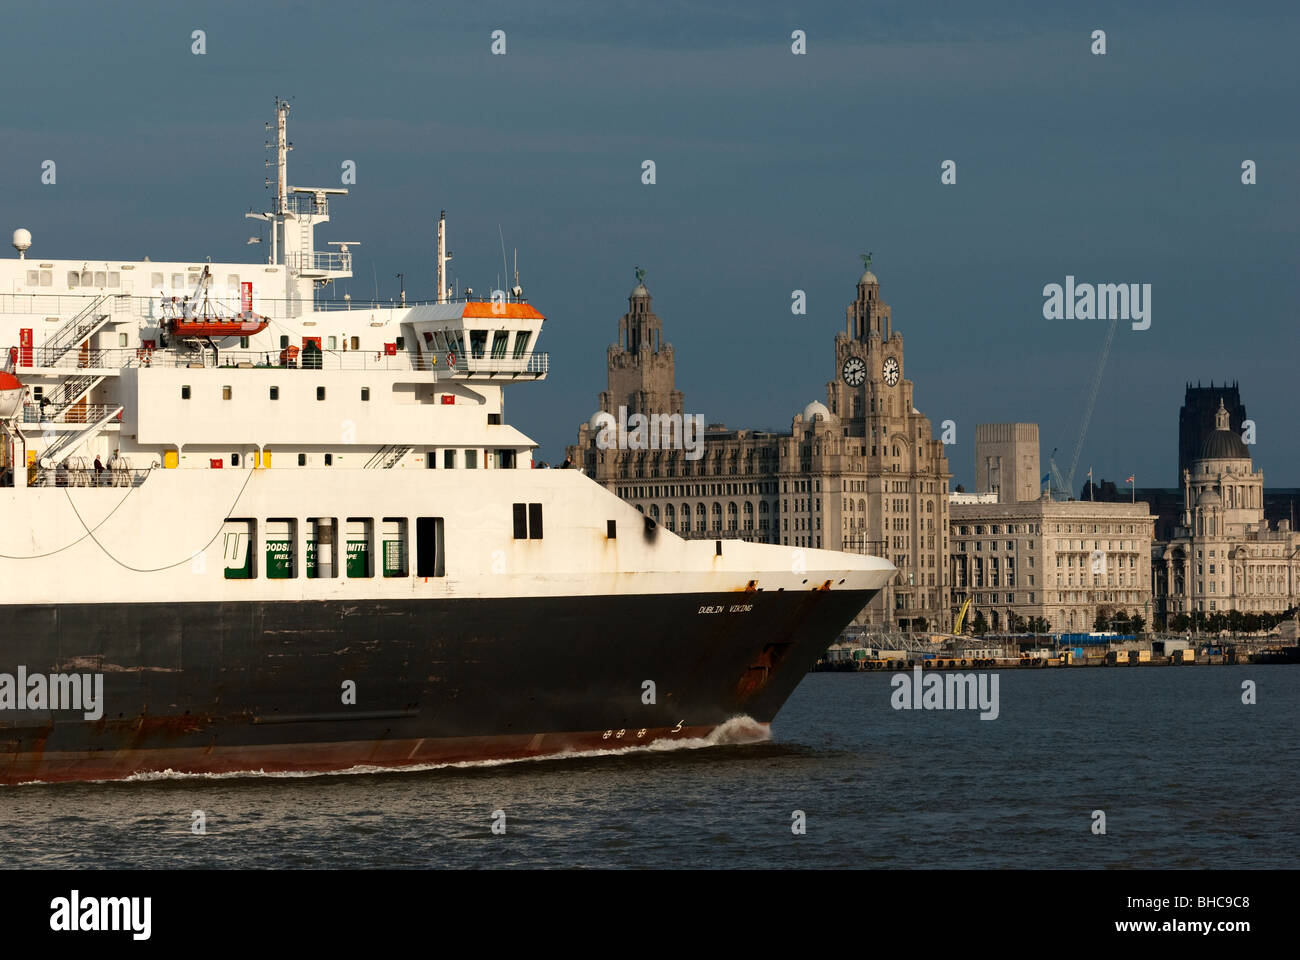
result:
M 755 739 L 768 725 L 753 722 Z M 266 747 L 209 747 L 150 751 L 10 753 L 0 757 L 0 784 L 64 780 L 120 780 L 135 774 L 299 773 L 325 774 L 354 767 L 403 767 L 581 754 L 593 751 L 645 747 L 656 740 L 693 740 L 716 727 L 682 726 L 575 734 L 529 734 L 455 739 L 274 744 Z M 619 732 L 623 736 L 619 736 Z M 360 770 L 364 771 L 364 770 Z

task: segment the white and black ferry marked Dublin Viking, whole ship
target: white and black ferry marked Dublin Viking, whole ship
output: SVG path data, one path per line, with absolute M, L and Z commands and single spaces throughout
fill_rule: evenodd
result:
M 525 758 L 768 725 L 894 575 L 686 540 L 543 470 L 517 285 L 326 299 L 342 189 L 264 263 L 0 259 L 0 783 Z M 270 125 L 268 125 L 270 129 Z M 467 291 L 468 293 L 468 291 Z

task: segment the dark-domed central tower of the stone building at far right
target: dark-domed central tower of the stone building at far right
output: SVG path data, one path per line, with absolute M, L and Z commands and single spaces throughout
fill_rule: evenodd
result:
M 1264 471 L 1228 423 L 1221 399 L 1214 431 L 1183 473 L 1183 526 L 1193 537 L 1242 536 L 1264 520 Z

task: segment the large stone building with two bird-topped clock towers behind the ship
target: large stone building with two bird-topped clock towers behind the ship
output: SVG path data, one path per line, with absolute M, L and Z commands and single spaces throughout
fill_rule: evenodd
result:
M 684 537 L 883 555 L 898 575 L 862 620 L 946 630 L 948 458 L 914 406 L 902 336 L 870 268 L 835 337 L 835 369 L 826 403 L 809 403 L 789 433 L 710 427 L 696 449 L 655 449 L 658 434 L 638 437 L 636 424 L 624 429 L 624 421 L 681 415 L 682 402 L 672 346 L 662 342 L 638 274 L 619 342 L 608 350 L 608 389 L 578 428 L 569 460 Z M 684 432 L 690 441 L 689 418 Z M 607 440 L 598 444 L 601 436 Z M 623 438 L 618 446 L 608 442 L 615 436 Z

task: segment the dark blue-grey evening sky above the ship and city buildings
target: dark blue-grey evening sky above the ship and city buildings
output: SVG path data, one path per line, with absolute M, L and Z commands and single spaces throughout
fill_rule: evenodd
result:
M 25 4 L 0 35 L 0 230 L 34 256 L 244 260 L 278 95 L 290 183 L 356 165 L 317 229 L 361 242 L 337 297 L 396 297 L 398 273 L 432 297 L 439 209 L 460 287 L 517 248 L 551 372 L 506 415 L 543 459 L 597 407 L 636 267 L 686 412 L 789 429 L 870 251 L 916 406 L 956 423 L 954 485 L 978 423 L 1037 423 L 1044 472 L 1069 466 L 1108 327 L 1044 319 L 1074 276 L 1152 285 L 1075 489 L 1089 467 L 1175 485 L 1184 386 L 1225 380 L 1266 485 L 1296 487 L 1297 47 L 1286 3 Z

